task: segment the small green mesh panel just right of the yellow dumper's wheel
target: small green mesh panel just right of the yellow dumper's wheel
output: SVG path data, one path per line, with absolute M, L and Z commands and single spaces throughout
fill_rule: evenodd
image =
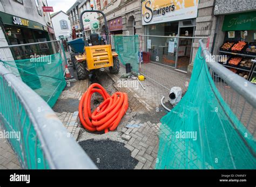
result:
M 139 36 L 113 35 L 115 50 L 120 62 L 130 63 L 133 71 L 139 71 Z

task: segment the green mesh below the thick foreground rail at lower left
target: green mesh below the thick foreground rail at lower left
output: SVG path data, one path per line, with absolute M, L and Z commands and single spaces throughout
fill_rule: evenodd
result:
M 8 141 L 22 168 L 49 168 L 24 103 L 21 103 L 21 99 L 3 76 L 0 76 L 0 85 L 0 127 L 3 127 L 5 135 L 8 132 Z

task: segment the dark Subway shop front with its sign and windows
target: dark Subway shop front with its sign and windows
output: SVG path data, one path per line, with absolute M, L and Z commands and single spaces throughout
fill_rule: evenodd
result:
M 50 41 L 48 27 L 39 24 L 35 21 L 9 15 L 8 13 L 0 12 L 0 17 L 3 22 L 5 37 L 9 45 L 29 44 L 34 42 Z M 13 48 L 17 59 L 26 59 L 31 54 L 49 54 L 48 45 L 25 46 Z M 47 46 L 47 47 L 46 47 Z

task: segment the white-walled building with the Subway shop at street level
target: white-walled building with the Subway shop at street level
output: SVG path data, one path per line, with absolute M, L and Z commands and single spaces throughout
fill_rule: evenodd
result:
M 51 19 L 48 12 L 43 12 L 44 5 L 47 5 L 46 1 L 39 0 L 0 2 L 0 24 L 7 44 L 53 39 Z

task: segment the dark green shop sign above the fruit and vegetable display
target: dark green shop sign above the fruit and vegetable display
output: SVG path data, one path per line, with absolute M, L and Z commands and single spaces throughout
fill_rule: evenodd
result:
M 223 31 L 256 30 L 256 11 L 225 15 Z

